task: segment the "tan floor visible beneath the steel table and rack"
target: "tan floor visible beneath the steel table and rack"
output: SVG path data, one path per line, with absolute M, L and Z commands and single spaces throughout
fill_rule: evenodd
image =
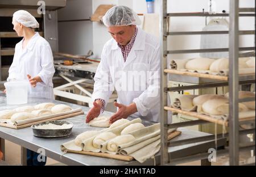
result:
M 5 141 L 5 149 L 6 149 L 6 162 L 3 163 L 5 165 L 20 165 L 20 146 L 14 144 L 10 141 Z M 244 151 L 240 153 L 240 164 L 243 165 L 246 162 L 254 161 L 255 162 L 255 156 L 251 158 L 251 151 Z M 1 165 L 1 162 L 0 162 Z M 63 163 L 57 162 L 51 158 L 47 158 L 46 165 L 64 165 Z M 182 163 L 179 164 L 184 166 L 200 166 L 201 161 L 194 161 L 194 162 L 188 162 L 188 163 Z M 225 166 L 229 165 L 229 158 L 228 155 L 222 155 L 220 157 L 217 157 L 216 162 L 212 162 L 212 166 Z

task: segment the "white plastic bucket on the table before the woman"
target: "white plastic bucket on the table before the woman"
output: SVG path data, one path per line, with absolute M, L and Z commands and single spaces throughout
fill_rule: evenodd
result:
M 11 81 L 4 83 L 7 104 L 26 104 L 28 97 L 27 81 Z

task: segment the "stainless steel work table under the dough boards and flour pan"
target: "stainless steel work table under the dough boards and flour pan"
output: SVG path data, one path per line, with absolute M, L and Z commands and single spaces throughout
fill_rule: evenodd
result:
M 35 105 L 43 102 L 49 102 L 47 99 L 38 99 L 38 98 L 29 98 L 28 104 Z M 60 104 L 63 102 L 53 100 L 53 103 Z M 67 153 L 63 155 L 63 151 L 60 150 L 60 145 L 64 142 L 73 140 L 78 134 L 85 132 L 86 130 L 97 130 L 100 128 L 89 127 L 89 125 L 85 124 L 85 116 L 89 111 L 88 107 L 79 106 L 76 104 L 65 103 L 72 108 L 81 107 L 85 112 L 85 115 L 75 116 L 68 119 L 64 119 L 67 121 L 71 121 L 74 124 L 72 129 L 72 135 L 70 137 L 65 138 L 39 138 L 35 137 L 32 134 L 32 129 L 30 127 L 23 129 L 11 129 L 0 127 L 0 141 L 1 141 L 1 151 L 5 152 L 5 140 L 14 142 L 22 146 L 22 165 L 26 165 L 26 149 L 30 149 L 33 151 L 38 151 L 39 148 L 43 148 L 46 152 L 46 156 L 66 165 L 154 165 L 154 159 L 148 159 L 148 161 L 143 164 L 137 161 L 125 162 L 119 161 L 115 159 L 102 158 L 102 157 L 94 157 L 91 155 L 82 155 L 82 154 L 73 154 Z M 22 106 L 26 106 L 24 104 Z M 19 105 L 20 106 L 20 105 Z M 3 109 L 11 109 L 19 106 L 7 106 L 6 105 L 6 97 L 3 93 L 0 93 L 0 110 Z M 104 112 L 105 115 L 111 115 L 111 112 Z M 149 121 L 143 121 L 144 125 L 151 125 L 152 123 Z M 196 132 L 188 129 L 180 129 L 182 131 L 181 135 L 172 139 L 172 141 L 176 140 L 184 140 L 186 138 L 193 137 L 201 137 L 205 135 L 209 135 L 208 133 Z M 210 147 L 215 147 L 214 142 L 200 142 L 189 145 L 175 146 L 169 147 L 169 151 L 172 157 L 183 157 L 184 155 L 199 153 L 199 152 L 207 152 Z M 160 158 L 159 153 L 155 156 L 156 165 L 159 164 Z M 209 165 L 207 163 L 207 165 Z

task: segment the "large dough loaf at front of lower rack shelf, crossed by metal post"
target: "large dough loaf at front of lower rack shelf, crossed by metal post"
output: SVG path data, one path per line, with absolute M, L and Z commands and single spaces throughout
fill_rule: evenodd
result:
M 248 108 L 239 103 L 239 112 L 248 111 Z M 225 115 L 229 113 L 229 100 L 224 98 L 211 99 L 202 105 L 203 112 L 208 115 Z

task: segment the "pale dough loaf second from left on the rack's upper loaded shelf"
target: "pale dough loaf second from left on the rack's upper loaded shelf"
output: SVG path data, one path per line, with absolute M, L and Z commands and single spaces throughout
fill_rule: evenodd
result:
M 215 61 L 213 58 L 193 58 L 185 64 L 185 69 L 209 70 L 210 65 Z

